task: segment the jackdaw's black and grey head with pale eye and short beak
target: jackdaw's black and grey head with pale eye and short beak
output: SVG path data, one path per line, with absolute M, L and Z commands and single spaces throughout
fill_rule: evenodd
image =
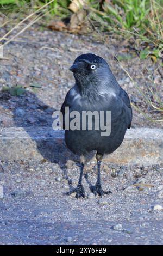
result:
M 108 63 L 92 53 L 82 54 L 74 61 L 70 68 L 77 83 L 86 86 L 87 83 L 99 83 L 110 71 Z

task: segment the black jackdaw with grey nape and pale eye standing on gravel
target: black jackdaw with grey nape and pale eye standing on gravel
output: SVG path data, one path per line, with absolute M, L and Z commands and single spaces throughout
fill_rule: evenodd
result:
M 109 194 L 110 191 L 103 191 L 101 187 L 101 160 L 104 154 L 111 154 L 120 147 L 126 130 L 130 129 L 132 109 L 129 96 L 117 83 L 108 63 L 95 54 L 80 55 L 74 61 L 70 71 L 73 72 L 75 85 L 68 91 L 62 104 L 63 116 L 65 116 L 65 107 L 69 107 L 70 113 L 78 111 L 80 114 L 82 111 L 98 111 L 98 113 L 110 111 L 111 133 L 109 136 L 101 136 L 101 129 L 65 131 L 66 145 L 74 154 L 80 155 L 81 163 L 78 186 L 66 194 L 76 192 L 76 198 L 85 197 L 82 185 L 84 163 L 87 154 L 93 150 L 96 150 L 98 177 L 91 191 L 99 196 Z

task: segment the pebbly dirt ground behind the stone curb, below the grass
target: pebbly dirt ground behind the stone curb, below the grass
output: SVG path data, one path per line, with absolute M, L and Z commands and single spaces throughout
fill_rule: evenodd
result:
M 0 33 L 3 35 L 6 31 L 7 28 L 1 28 Z M 0 92 L 2 127 L 51 125 L 54 109 L 60 109 L 68 89 L 74 84 L 68 68 L 80 54 L 89 52 L 106 59 L 118 83 L 136 107 L 149 118 L 160 119 L 159 113 L 147 105 L 145 98 L 116 62 L 114 54 L 123 59 L 121 64 L 143 93 L 150 86 L 160 96 L 163 95 L 163 68 L 159 61 L 153 64 L 150 58 L 140 60 L 131 50 L 133 45 L 127 44 L 127 41 L 121 40 L 117 44 L 117 39 L 108 36 L 108 43 L 104 45 L 93 37 L 48 29 L 42 31 L 40 27 L 30 28 L 15 40 L 4 46 L 3 55 L 9 59 L 0 60 L 0 89 L 18 85 L 25 87 L 27 92 L 18 97 Z M 133 127 L 161 127 L 160 123 L 152 123 L 135 108 L 133 112 Z

